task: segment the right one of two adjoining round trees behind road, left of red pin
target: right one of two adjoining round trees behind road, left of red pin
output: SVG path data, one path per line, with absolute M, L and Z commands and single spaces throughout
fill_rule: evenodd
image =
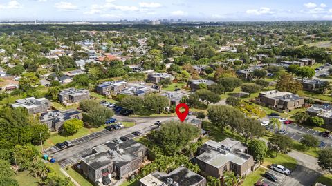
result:
M 165 107 L 169 106 L 169 99 L 159 94 L 145 94 L 144 107 L 147 110 L 154 111 L 156 113 L 162 112 Z

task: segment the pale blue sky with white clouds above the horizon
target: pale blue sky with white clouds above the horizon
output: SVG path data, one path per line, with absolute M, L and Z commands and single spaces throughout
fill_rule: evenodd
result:
M 0 20 L 118 21 L 332 20 L 332 1 L 304 0 L 0 0 Z

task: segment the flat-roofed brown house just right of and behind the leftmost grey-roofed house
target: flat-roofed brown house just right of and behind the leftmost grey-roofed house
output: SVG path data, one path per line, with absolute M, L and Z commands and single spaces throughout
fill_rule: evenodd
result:
M 89 90 L 67 88 L 61 90 L 57 96 L 61 103 L 77 103 L 89 99 Z

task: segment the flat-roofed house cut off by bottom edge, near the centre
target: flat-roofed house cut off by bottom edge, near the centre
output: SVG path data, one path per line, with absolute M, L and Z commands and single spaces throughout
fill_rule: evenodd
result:
M 168 174 L 165 172 L 153 172 L 139 180 L 140 186 L 205 186 L 206 179 L 185 167 L 178 167 Z

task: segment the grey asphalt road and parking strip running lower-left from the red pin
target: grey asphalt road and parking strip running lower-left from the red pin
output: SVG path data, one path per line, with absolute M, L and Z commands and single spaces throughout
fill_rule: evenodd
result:
M 154 123 L 156 121 L 161 121 L 162 123 L 165 121 L 169 121 L 172 119 L 177 119 L 177 117 L 157 117 L 157 118 L 151 118 L 151 117 L 137 117 L 137 118 L 131 118 L 131 117 L 124 117 L 124 116 L 114 116 L 118 121 L 135 121 L 136 125 L 129 128 L 124 128 L 121 130 L 116 131 L 104 131 L 100 135 L 94 135 L 94 138 L 90 138 L 89 134 L 88 136 L 85 136 L 86 138 L 82 137 L 79 138 L 80 143 L 76 143 L 77 145 L 74 145 L 72 147 L 68 147 L 61 150 L 54 150 L 49 151 L 48 154 L 55 158 L 55 160 L 61 165 L 62 167 L 67 167 L 69 165 L 74 165 L 75 163 L 78 163 L 82 160 L 82 158 L 89 156 L 92 153 L 92 148 L 98 145 L 102 145 L 106 143 L 107 141 L 112 141 L 114 138 L 119 138 L 121 136 L 131 136 L 131 134 L 134 131 L 139 131 L 142 134 L 147 134 L 151 130 L 156 129 L 156 125 Z M 194 116 L 188 116 L 188 118 L 192 119 Z M 98 133 L 97 133 L 98 134 Z

